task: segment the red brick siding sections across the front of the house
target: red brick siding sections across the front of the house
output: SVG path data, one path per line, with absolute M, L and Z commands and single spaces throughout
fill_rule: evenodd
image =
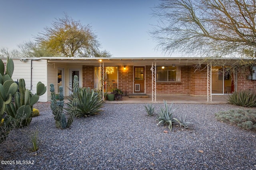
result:
M 82 67 L 82 77 L 84 87 L 94 87 L 94 66 L 84 65 Z M 152 73 L 151 65 L 146 66 L 145 82 L 146 93 L 152 93 Z M 194 70 L 193 66 L 181 66 L 180 82 L 156 83 L 156 93 L 159 95 L 191 95 L 207 96 L 207 69 Z M 248 80 L 248 73 L 238 72 L 238 91 L 250 89 L 256 91 L 256 80 Z M 118 89 L 124 93 L 133 93 L 133 66 L 118 66 Z

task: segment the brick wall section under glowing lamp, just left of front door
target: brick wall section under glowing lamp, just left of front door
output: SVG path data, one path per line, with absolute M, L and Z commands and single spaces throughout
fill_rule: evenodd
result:
M 127 94 L 133 93 L 133 66 L 118 66 L 118 89 Z

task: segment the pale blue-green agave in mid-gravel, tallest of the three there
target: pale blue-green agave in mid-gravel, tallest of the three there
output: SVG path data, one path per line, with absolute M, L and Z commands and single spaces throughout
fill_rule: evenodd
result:
M 164 108 L 161 107 L 160 113 L 157 115 L 157 121 L 158 125 L 168 125 L 168 128 L 172 130 L 172 123 L 174 122 L 174 119 L 172 119 L 173 113 L 176 109 L 172 109 L 173 103 L 168 106 L 167 102 L 164 100 Z

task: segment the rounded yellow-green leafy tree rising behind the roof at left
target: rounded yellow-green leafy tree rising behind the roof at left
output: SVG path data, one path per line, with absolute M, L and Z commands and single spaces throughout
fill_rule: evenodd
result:
M 52 53 L 64 57 L 94 57 L 99 54 L 100 43 L 91 26 L 84 26 L 67 14 L 56 19 L 51 27 L 45 27 L 44 32 L 35 38 Z

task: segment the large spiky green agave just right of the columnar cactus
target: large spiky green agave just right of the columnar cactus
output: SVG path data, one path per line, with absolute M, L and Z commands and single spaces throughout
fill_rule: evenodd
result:
M 70 102 L 72 101 L 72 96 L 68 99 Z M 79 88 L 78 91 L 78 105 L 76 110 L 76 117 L 88 117 L 91 115 L 97 115 L 100 111 L 100 108 L 103 107 L 103 99 L 100 95 L 90 89 L 89 87 Z M 72 107 L 72 103 L 68 103 L 68 109 Z

